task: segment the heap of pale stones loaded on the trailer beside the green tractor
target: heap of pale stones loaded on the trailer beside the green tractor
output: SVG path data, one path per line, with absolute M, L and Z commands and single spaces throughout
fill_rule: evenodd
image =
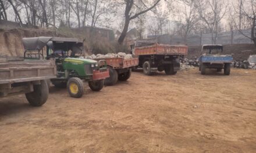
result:
M 131 54 L 126 54 L 119 52 L 117 54 L 115 53 L 108 53 L 108 54 L 92 54 L 90 56 L 86 56 L 86 59 L 107 59 L 107 58 L 124 58 L 124 59 L 131 59 L 133 56 Z

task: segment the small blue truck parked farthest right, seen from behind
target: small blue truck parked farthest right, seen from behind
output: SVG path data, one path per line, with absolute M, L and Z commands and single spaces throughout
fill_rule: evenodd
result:
M 222 45 L 203 45 L 202 52 L 204 53 L 199 58 L 199 71 L 202 75 L 205 75 L 205 69 L 216 69 L 217 72 L 221 72 L 224 69 L 224 74 L 230 74 L 230 64 L 233 61 L 232 55 L 222 54 Z

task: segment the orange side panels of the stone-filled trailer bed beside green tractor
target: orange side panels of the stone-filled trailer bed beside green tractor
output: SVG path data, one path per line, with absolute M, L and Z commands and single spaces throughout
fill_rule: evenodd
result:
M 135 67 L 138 65 L 138 58 L 125 59 L 122 57 L 94 59 L 94 60 L 106 60 L 106 64 L 110 65 L 114 69 Z

